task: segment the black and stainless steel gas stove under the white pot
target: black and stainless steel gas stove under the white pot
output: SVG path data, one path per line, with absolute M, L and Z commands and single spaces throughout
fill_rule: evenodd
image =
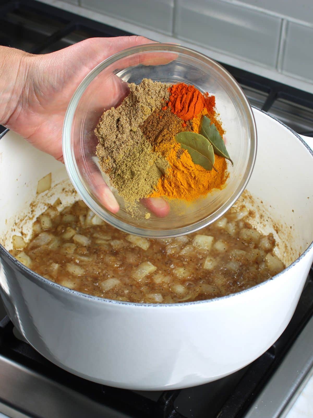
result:
M 130 35 L 33 0 L 0 1 L 0 16 L 0 44 L 34 54 L 93 36 Z M 313 94 L 221 64 L 240 83 L 251 105 L 299 134 L 313 136 Z M 293 319 L 267 352 L 230 376 L 183 390 L 137 392 L 81 379 L 25 342 L 3 306 L 0 319 L 0 417 L 284 417 L 313 373 L 312 269 Z

